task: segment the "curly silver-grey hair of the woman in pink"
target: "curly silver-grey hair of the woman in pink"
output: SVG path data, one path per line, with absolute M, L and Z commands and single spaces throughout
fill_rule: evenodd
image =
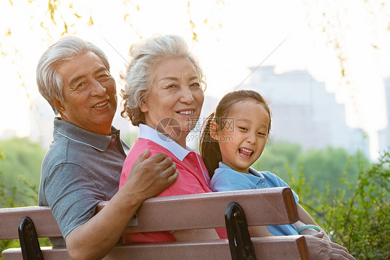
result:
M 198 60 L 188 51 L 183 38 L 176 35 L 164 35 L 149 38 L 130 47 L 131 60 L 126 67 L 126 73 L 121 74 L 125 81 L 125 88 L 121 90 L 124 111 L 122 117 L 129 117 L 135 126 L 145 124 L 145 116 L 141 111 L 142 102 L 146 101 L 153 83 L 155 65 L 169 57 L 189 58 L 195 67 L 198 79 L 204 88 L 205 76 L 198 64 Z

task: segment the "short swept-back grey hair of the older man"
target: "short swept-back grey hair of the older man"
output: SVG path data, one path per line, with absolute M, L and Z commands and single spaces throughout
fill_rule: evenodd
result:
M 58 115 L 57 108 L 52 99 L 64 101 L 62 96 L 63 82 L 57 70 L 66 60 L 76 58 L 92 51 L 103 62 L 104 67 L 110 71 L 108 59 L 101 49 L 91 42 L 86 42 L 77 37 L 69 36 L 62 38 L 47 49 L 37 65 L 37 85 L 41 95 L 49 102 L 54 113 Z

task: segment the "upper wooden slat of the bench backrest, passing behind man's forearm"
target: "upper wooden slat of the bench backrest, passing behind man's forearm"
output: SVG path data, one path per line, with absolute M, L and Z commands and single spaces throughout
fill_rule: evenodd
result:
M 248 226 L 287 224 L 298 220 L 298 212 L 290 188 L 264 188 L 153 197 L 145 200 L 139 207 L 138 226 L 127 227 L 125 232 L 225 227 L 223 214 L 230 202 L 237 202 L 242 206 Z M 99 203 L 97 211 L 103 209 L 107 203 Z M 48 207 L 29 206 L 0 209 L 0 239 L 19 238 L 17 227 L 25 216 L 33 220 L 38 237 L 62 236 Z

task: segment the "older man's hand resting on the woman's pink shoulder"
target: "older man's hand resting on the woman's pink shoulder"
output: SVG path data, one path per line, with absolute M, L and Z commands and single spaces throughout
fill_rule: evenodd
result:
M 140 195 L 142 201 L 159 195 L 178 179 L 176 163 L 173 163 L 171 157 L 162 153 L 149 155 L 149 149 L 139 154 L 126 184 L 121 188 Z

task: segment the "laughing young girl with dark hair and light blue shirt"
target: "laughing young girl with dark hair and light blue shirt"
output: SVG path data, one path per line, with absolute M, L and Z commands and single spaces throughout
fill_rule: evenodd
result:
M 213 191 L 289 187 L 271 172 L 257 172 L 251 165 L 259 159 L 271 129 L 271 112 L 266 100 L 251 90 L 225 95 L 215 112 L 207 118 L 201 136 L 201 155 Z M 251 236 L 288 236 L 313 234 L 330 241 L 313 218 L 298 204 L 294 225 L 250 227 Z

